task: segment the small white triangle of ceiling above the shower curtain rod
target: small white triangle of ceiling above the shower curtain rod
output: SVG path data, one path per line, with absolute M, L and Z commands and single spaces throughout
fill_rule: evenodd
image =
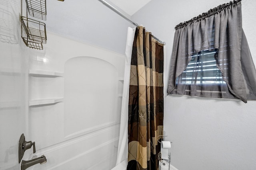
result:
M 151 0 L 109 0 L 128 15 L 132 16 Z

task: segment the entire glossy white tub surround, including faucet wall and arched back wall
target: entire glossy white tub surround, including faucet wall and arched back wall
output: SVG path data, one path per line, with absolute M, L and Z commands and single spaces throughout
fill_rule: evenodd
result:
M 20 30 L 14 16 L 9 21 Z M 26 151 L 23 160 L 47 158 L 34 169 L 114 167 L 124 55 L 50 31 L 39 51 L 26 47 L 19 33 L 15 44 L 0 42 L 0 169 L 20 169 L 22 133 L 36 142 L 36 153 Z

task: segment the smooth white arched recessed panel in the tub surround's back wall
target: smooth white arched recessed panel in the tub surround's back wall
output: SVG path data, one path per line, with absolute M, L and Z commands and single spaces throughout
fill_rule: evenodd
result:
M 64 133 L 84 135 L 118 122 L 118 71 L 94 57 L 74 57 L 64 68 Z

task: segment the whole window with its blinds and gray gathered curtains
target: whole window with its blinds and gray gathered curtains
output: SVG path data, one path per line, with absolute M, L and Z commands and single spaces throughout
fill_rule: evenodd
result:
M 241 0 L 175 29 L 168 94 L 256 100 L 256 69 L 242 29 Z

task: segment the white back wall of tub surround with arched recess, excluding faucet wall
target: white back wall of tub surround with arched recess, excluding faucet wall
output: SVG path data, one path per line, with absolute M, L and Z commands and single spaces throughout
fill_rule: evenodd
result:
M 68 66 L 67 63 L 70 62 L 71 65 Z M 97 64 L 100 67 L 97 67 Z M 30 101 L 40 98 L 64 99 L 56 104 L 29 107 L 29 129 L 33 129 L 30 131 L 30 137 L 37 141 L 37 152 L 30 157 L 44 154 L 47 158 L 46 164 L 34 166 L 34 169 L 82 170 L 92 167 L 103 170 L 114 167 L 119 139 L 122 99 L 119 92 L 122 91 L 123 65 L 124 55 L 120 53 L 48 31 L 44 51 L 35 51 L 30 55 L 30 71 L 63 72 L 63 76 L 30 75 Z M 87 67 L 90 70 L 86 70 Z M 103 78 L 99 76 L 100 73 L 104 75 Z M 66 81 L 72 76 L 71 86 L 70 82 Z M 104 78 L 112 82 L 106 79 L 104 83 L 101 81 Z M 79 85 L 77 83 L 84 84 L 84 89 L 76 86 Z M 74 89 L 67 93 L 67 86 Z M 87 89 L 89 86 L 90 89 Z M 105 89 L 106 87 L 112 88 Z M 66 98 L 77 90 L 81 94 L 77 93 L 74 101 Z M 109 92 L 112 94 L 109 95 Z M 92 97 L 97 99 L 94 103 L 90 102 Z M 106 99 L 105 102 L 103 99 Z M 77 107 L 82 109 L 76 108 L 77 103 Z M 104 110 L 100 111 L 101 109 Z

